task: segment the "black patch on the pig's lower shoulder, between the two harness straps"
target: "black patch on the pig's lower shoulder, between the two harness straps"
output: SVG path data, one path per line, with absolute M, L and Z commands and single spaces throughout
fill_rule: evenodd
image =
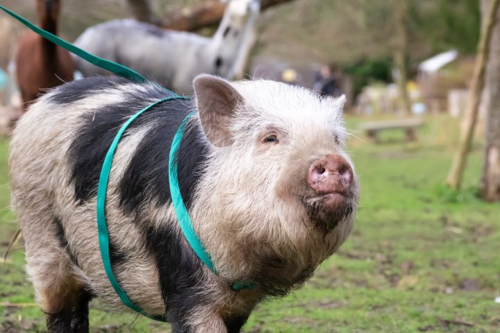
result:
M 151 223 L 143 223 L 151 225 Z M 146 244 L 155 255 L 167 320 L 174 332 L 190 332 L 190 311 L 207 302 L 203 293 L 203 262 L 192 248 L 185 246 L 178 228 L 167 225 L 149 227 Z

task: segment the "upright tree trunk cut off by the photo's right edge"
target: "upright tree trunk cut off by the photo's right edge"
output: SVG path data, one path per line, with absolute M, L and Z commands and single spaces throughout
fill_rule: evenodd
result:
M 491 0 L 482 0 L 484 10 Z M 486 66 L 485 94 L 487 94 L 486 150 L 483 179 L 483 199 L 500 201 L 500 13 L 494 24 L 490 45 L 490 58 Z

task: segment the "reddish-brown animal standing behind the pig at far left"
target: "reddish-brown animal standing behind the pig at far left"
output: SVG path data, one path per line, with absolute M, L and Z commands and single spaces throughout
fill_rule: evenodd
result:
M 60 0 L 36 0 L 40 27 L 57 35 Z M 44 90 L 73 80 L 74 62 L 69 52 L 33 31 L 26 32 L 16 54 L 17 85 L 24 110 Z

